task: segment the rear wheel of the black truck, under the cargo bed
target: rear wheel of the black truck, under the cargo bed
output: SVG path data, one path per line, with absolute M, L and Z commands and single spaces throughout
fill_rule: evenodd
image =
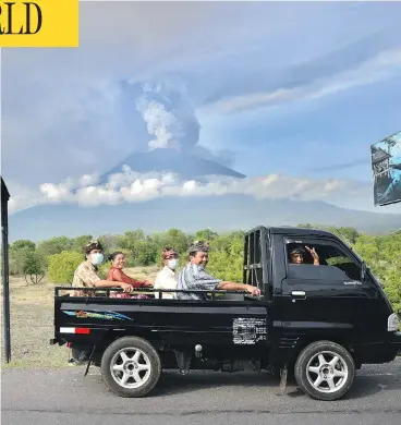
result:
M 127 355 L 124 363 L 119 354 L 122 351 L 127 354 L 141 354 L 137 362 L 134 360 L 134 356 Z M 112 373 L 112 365 L 121 367 L 121 371 Z M 141 369 L 144 366 L 147 367 L 146 371 Z M 113 392 L 120 397 L 138 398 L 148 394 L 158 382 L 161 374 L 161 362 L 155 348 L 145 339 L 122 337 L 113 341 L 105 350 L 100 369 L 105 382 Z M 144 373 L 143 376 L 141 375 L 142 373 Z M 125 386 L 120 381 L 124 376 L 129 376 Z M 135 381 L 135 377 L 138 378 L 138 381 Z

